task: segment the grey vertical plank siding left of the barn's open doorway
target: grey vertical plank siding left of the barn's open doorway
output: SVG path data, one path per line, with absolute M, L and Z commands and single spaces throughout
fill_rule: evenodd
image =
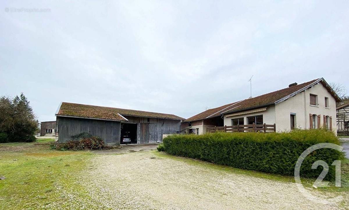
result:
M 101 137 L 105 143 L 120 144 L 120 122 L 57 116 L 58 142 L 67 142 L 81 132 Z

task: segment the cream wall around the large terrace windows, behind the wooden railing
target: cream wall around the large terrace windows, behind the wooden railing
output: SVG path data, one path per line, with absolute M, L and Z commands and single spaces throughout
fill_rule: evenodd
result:
M 272 105 L 267 108 L 266 111 L 261 111 L 261 112 L 254 112 L 250 114 L 242 114 L 242 115 L 235 115 L 235 116 L 228 116 L 224 115 L 224 126 L 232 126 L 232 119 L 235 118 L 244 118 L 244 124 L 247 124 L 247 117 L 249 116 L 255 116 L 255 115 L 263 115 L 263 123 L 266 124 L 274 124 L 275 123 L 275 106 Z M 229 115 L 229 114 L 228 114 Z M 277 124 L 276 124 L 277 128 Z

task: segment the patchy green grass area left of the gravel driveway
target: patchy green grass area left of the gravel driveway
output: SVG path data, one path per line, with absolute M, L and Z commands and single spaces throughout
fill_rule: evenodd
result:
M 50 150 L 52 139 L 0 144 L 0 209 L 92 208 L 76 176 L 89 164 L 89 151 Z M 83 205 L 83 206 L 82 206 Z M 98 204 L 97 204 L 98 205 Z

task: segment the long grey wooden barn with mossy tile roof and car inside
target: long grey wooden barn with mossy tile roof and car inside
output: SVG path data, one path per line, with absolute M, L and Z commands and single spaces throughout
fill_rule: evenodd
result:
M 184 120 L 173 114 L 67 102 L 59 105 L 55 115 L 59 143 L 87 132 L 108 145 L 119 145 L 123 137 L 131 138 L 134 144 L 162 142 L 163 136 L 178 134 Z

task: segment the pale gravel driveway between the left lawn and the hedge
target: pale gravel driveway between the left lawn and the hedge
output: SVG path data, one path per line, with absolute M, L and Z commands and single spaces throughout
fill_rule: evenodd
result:
M 104 205 L 98 208 L 338 208 L 307 200 L 294 183 L 236 174 L 229 169 L 217 170 L 199 161 L 190 164 L 184 158 L 158 154 L 146 151 L 98 155 L 81 181 L 86 183 L 84 187 L 93 202 Z

